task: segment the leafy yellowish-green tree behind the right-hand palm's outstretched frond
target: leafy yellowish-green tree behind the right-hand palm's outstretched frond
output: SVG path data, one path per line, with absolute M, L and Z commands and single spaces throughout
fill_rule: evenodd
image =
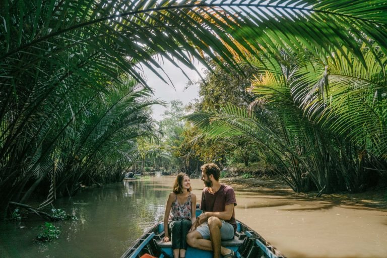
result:
M 205 71 L 204 80 L 198 81 L 199 99 L 188 105 L 190 109 L 217 110 L 227 103 L 247 107 L 253 100 L 247 92 L 254 73 L 257 70 L 248 64 L 240 63 L 244 76 L 235 71 L 227 72 L 214 61 L 209 62 L 211 70 Z M 228 64 L 224 64 L 228 67 Z M 188 85 L 189 86 L 189 85 Z M 216 162 L 221 167 L 234 162 L 243 162 L 246 166 L 253 158 L 252 146 L 243 140 L 234 138 L 229 142 L 214 142 L 205 137 L 198 127 L 185 124 L 182 132 L 183 141 L 174 155 L 198 159 L 201 163 Z

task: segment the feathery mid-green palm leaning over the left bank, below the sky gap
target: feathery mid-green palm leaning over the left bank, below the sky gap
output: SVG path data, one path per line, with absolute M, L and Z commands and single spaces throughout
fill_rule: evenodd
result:
M 102 94 L 100 101 L 105 105 L 97 107 L 97 101 L 87 106 L 88 112 L 69 128 L 69 133 L 76 132 L 76 139 L 70 149 L 63 148 L 62 162 L 72 176 L 61 175 L 59 190 L 70 184 L 73 191 L 82 178 L 89 180 L 90 176 L 99 182 L 120 179 L 117 173 L 122 173 L 122 169 L 118 167 L 126 167 L 135 160 L 138 139 L 154 138 L 147 108 L 158 102 L 150 100 L 149 89 L 134 80 L 123 86 L 117 85 Z M 106 174 L 109 168 L 111 176 Z

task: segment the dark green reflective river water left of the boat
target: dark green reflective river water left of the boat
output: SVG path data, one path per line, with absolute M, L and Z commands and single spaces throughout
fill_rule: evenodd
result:
M 43 221 L 1 222 L 0 257 L 120 257 L 146 229 L 163 217 L 170 187 L 161 181 L 124 181 L 82 190 L 56 202 L 78 217 L 55 222 L 59 239 L 35 242 Z

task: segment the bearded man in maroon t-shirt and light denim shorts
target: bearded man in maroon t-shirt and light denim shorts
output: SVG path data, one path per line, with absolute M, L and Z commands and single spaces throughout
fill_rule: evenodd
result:
M 206 186 L 200 204 L 203 213 L 189 230 L 187 243 L 202 250 L 214 251 L 214 258 L 220 258 L 221 254 L 225 258 L 233 258 L 234 251 L 221 246 L 221 240 L 232 239 L 236 230 L 234 189 L 219 183 L 220 169 L 216 164 L 204 164 L 201 170 Z

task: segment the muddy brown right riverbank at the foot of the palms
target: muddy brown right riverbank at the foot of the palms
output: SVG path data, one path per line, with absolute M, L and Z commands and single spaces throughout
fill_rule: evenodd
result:
M 280 196 L 287 196 L 294 199 L 309 199 L 329 201 L 336 204 L 351 206 L 363 206 L 374 209 L 387 210 L 387 187 L 380 187 L 369 189 L 361 193 L 349 193 L 340 192 L 327 195 L 321 195 L 321 197 L 315 197 L 317 191 L 310 191 L 307 193 L 294 192 L 285 182 L 281 179 L 270 178 L 241 178 L 241 177 L 227 177 L 221 178 L 222 183 L 232 186 L 238 191 L 262 191 L 272 192 L 273 194 Z

